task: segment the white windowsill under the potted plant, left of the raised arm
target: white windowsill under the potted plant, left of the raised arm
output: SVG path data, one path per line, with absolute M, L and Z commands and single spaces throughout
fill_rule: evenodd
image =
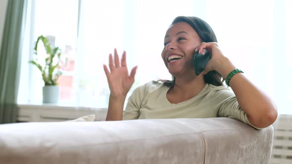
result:
M 76 107 L 72 104 L 18 104 L 18 122 L 60 122 L 74 120 L 82 116 L 96 116 L 95 121 L 104 121 L 106 108 Z

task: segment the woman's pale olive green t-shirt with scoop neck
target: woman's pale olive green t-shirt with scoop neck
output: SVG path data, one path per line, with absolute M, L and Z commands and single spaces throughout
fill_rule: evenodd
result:
M 247 120 L 234 92 L 225 86 L 206 84 L 198 95 L 178 104 L 168 101 L 168 90 L 156 81 L 137 87 L 128 99 L 123 120 L 228 117 L 257 128 Z

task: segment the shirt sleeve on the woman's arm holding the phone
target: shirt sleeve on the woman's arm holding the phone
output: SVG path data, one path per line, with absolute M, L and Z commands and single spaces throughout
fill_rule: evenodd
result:
M 256 129 L 247 119 L 246 113 L 240 107 L 234 92 L 228 88 L 216 91 L 211 97 L 212 106 L 218 110 L 218 117 L 237 119 Z

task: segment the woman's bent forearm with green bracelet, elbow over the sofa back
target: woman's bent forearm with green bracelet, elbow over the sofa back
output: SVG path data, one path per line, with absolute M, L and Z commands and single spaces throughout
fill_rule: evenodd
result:
M 229 59 L 224 58 L 217 71 L 224 79 L 236 67 Z M 246 113 L 248 121 L 256 127 L 266 127 L 277 119 L 277 108 L 274 102 L 263 91 L 252 84 L 242 73 L 235 74 L 230 82 L 238 103 Z

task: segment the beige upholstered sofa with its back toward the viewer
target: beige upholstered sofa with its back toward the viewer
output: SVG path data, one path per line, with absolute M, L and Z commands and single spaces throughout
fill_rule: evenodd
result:
M 229 118 L 0 125 L 0 164 L 269 164 L 273 127 Z

